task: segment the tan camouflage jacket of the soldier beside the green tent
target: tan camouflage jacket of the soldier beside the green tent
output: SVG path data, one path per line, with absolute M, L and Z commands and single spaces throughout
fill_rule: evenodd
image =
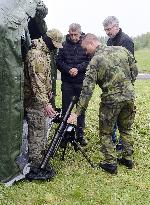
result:
M 49 103 L 51 68 L 48 49 L 42 38 L 33 40 L 25 63 L 25 107 Z M 35 45 L 36 44 L 36 45 Z

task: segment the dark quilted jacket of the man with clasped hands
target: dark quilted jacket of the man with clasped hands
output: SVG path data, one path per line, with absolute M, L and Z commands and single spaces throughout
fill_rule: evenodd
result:
M 82 83 L 89 61 L 90 58 L 81 47 L 81 42 L 73 43 L 67 35 L 63 48 L 59 49 L 56 57 L 57 67 L 61 72 L 61 80 L 69 83 Z M 69 74 L 71 68 L 78 69 L 77 76 L 72 77 Z

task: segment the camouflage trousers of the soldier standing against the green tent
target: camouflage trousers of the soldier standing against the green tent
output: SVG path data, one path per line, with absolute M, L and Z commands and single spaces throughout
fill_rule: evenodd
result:
M 38 167 L 47 145 L 47 117 L 42 107 L 27 109 L 29 161 Z

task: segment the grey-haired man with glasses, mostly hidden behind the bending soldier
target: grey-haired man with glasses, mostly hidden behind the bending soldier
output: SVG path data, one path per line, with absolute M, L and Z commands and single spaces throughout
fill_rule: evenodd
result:
M 108 16 L 103 21 L 103 26 L 106 34 L 109 36 L 109 39 L 107 41 L 107 46 L 125 47 L 134 56 L 134 42 L 127 34 L 125 34 L 122 31 L 121 28 L 119 28 L 119 20 L 115 16 Z M 117 130 L 117 124 L 115 124 L 114 131 L 112 134 L 112 141 L 114 143 L 116 143 L 117 141 L 116 130 Z M 122 150 L 121 139 L 119 139 L 119 143 L 116 146 L 116 149 Z

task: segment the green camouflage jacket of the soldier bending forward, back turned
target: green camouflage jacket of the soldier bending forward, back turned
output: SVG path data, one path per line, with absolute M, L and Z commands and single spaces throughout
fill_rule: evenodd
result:
M 103 103 L 134 100 L 133 83 L 138 74 L 134 57 L 119 46 L 100 46 L 90 61 L 77 107 L 77 114 L 86 110 L 95 84 L 102 89 Z

